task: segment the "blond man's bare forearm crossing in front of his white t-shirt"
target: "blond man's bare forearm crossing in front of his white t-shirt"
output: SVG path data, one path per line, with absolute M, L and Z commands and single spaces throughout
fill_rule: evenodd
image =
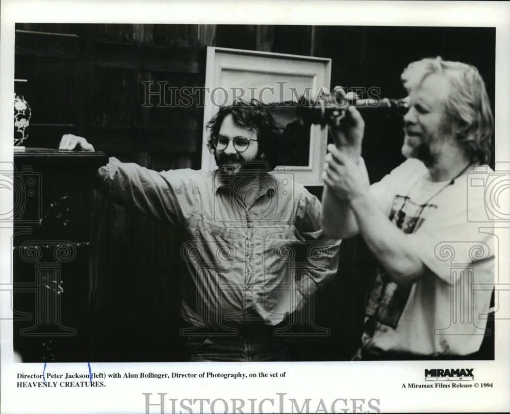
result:
M 410 283 L 425 273 L 426 267 L 407 236 L 388 220 L 370 192 L 350 200 L 350 205 L 363 239 L 392 280 Z

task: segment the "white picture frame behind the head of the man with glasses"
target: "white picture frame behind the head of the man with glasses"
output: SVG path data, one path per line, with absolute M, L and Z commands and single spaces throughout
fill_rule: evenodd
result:
M 217 168 L 207 146 L 209 131 L 206 126 L 220 107 L 231 105 L 236 98 L 246 101 L 256 98 L 264 105 L 297 102 L 303 94 L 314 97 L 321 91 L 328 91 L 330 79 L 331 59 L 328 58 L 208 47 L 201 168 L 206 171 Z M 295 111 L 294 108 L 285 109 L 288 114 Z M 295 182 L 304 186 L 322 186 L 326 145 L 327 128 L 312 125 L 308 165 L 278 166 L 278 171 L 294 174 Z

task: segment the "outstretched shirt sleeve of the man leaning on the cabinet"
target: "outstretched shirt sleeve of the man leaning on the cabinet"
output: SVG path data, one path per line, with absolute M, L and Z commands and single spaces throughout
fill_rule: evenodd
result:
M 101 193 L 169 225 L 182 223 L 195 209 L 195 170 L 157 172 L 113 157 L 97 172 Z

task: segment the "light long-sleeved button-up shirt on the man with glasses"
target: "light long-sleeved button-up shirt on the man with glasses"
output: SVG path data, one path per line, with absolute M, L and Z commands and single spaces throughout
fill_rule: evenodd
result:
M 336 274 L 321 204 L 290 173 L 157 172 L 111 158 L 98 171 L 122 205 L 184 230 L 181 316 L 221 330 L 277 325 Z

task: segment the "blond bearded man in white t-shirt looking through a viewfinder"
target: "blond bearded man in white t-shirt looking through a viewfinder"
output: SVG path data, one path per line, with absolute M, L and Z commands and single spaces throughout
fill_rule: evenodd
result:
M 361 158 L 360 113 L 351 106 L 331 125 L 324 228 L 360 234 L 379 265 L 354 359 L 470 358 L 494 283 L 492 236 L 468 220 L 486 214 L 482 193 L 468 200 L 468 173 L 492 171 L 489 98 L 475 67 L 441 58 L 411 63 L 401 80 L 407 160 L 380 182 L 369 185 Z

